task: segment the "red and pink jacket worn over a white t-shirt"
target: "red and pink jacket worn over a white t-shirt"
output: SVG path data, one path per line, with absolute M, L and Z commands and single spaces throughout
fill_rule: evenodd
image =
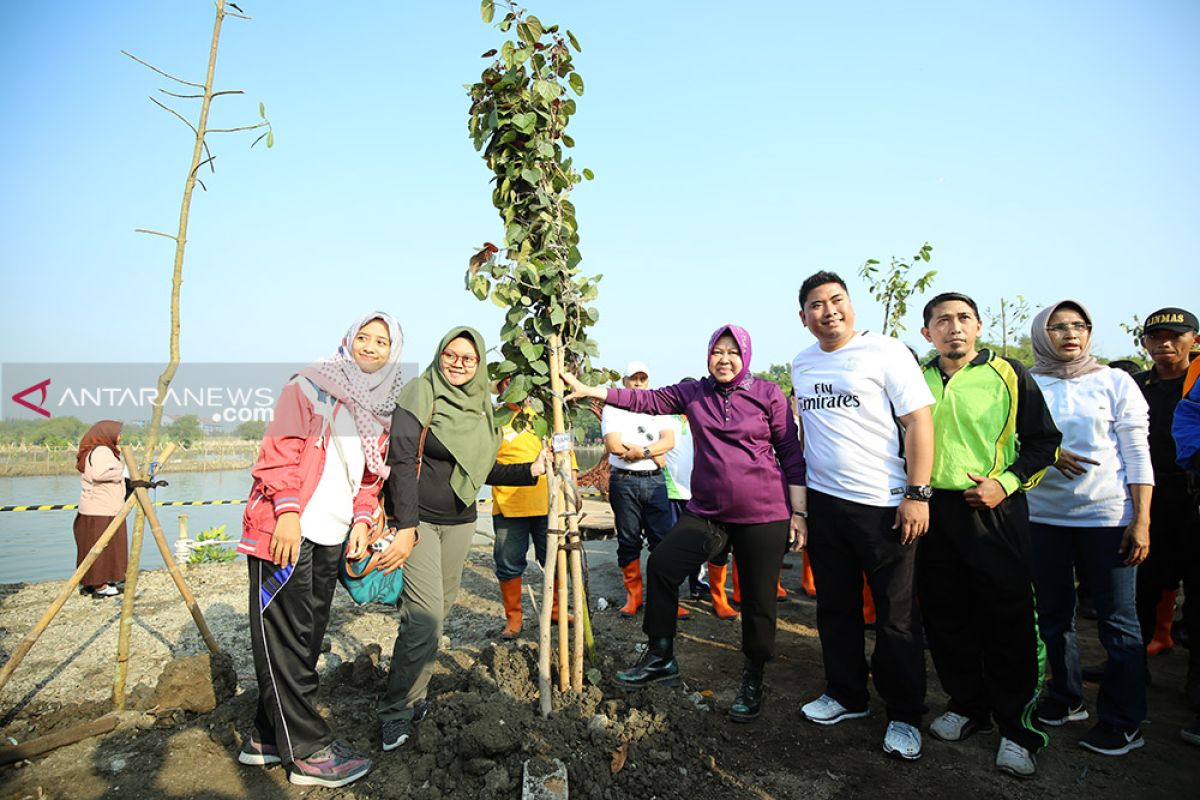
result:
M 275 404 L 275 416 L 266 426 L 266 435 L 251 469 L 254 482 L 241 517 L 241 542 L 238 552 L 264 560 L 271 558 L 271 535 L 281 513 L 304 513 L 317 491 L 325 469 L 325 447 L 329 444 L 329 420 L 318 414 L 312 401 L 293 379 Z M 344 409 L 341 403 L 335 407 Z M 388 434 L 379 439 L 388 446 Z M 359 493 L 354 498 L 354 523 L 371 522 L 383 481 L 367 469 L 362 470 Z

